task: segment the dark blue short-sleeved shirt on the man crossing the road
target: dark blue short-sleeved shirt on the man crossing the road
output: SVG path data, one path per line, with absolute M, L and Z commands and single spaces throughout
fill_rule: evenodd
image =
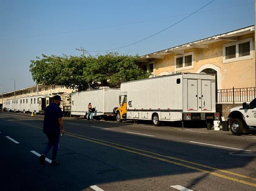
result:
M 60 107 L 52 103 L 45 108 L 45 118 L 43 120 L 43 132 L 45 134 L 60 134 L 60 124 L 58 118 L 62 118 L 63 113 Z

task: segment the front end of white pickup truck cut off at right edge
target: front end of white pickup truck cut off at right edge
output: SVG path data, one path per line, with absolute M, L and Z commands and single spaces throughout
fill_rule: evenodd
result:
M 230 130 L 234 135 L 241 135 L 248 129 L 256 128 L 256 98 L 249 104 L 244 102 L 243 106 L 231 108 L 228 120 Z

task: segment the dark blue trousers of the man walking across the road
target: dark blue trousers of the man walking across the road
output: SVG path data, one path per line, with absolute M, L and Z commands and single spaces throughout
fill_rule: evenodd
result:
M 48 138 L 48 144 L 46 145 L 45 152 L 43 154 L 47 155 L 50 149 L 53 147 L 52 160 L 55 161 L 57 158 L 58 146 L 60 142 L 60 133 L 47 133 L 46 136 Z

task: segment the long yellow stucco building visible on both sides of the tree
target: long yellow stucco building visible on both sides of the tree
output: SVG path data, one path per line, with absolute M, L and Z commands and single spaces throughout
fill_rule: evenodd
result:
M 146 54 L 138 65 L 152 76 L 178 72 L 216 74 L 216 102 L 241 103 L 256 97 L 255 27 L 249 26 L 195 42 Z M 11 98 L 69 94 L 57 85 L 35 85 L 4 93 Z M 2 99 L 0 99 L 2 103 Z

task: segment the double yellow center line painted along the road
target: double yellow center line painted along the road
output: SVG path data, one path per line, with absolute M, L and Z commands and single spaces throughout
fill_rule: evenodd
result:
M 17 123 L 21 123 L 21 124 L 24 124 L 24 125 L 29 125 L 29 126 L 32 126 L 32 127 L 43 129 L 39 125 L 32 125 L 32 124 L 26 123 L 26 122 L 17 122 Z M 256 180 L 255 178 L 250 177 L 250 176 L 245 176 L 245 175 L 242 175 L 242 174 L 238 174 L 238 173 L 234 173 L 234 172 L 230 172 L 230 171 L 226 171 L 226 170 L 218 169 L 218 168 L 214 168 L 214 167 L 209 167 L 209 166 L 206 166 L 206 165 L 203 165 L 203 164 L 198 164 L 198 163 L 195 163 L 195 162 L 190 162 L 190 161 L 186 161 L 186 160 L 183 160 L 183 159 L 178 159 L 178 158 L 175 158 L 175 157 L 170 157 L 170 156 L 166 156 L 166 155 L 162 155 L 162 154 L 158 154 L 158 153 L 154 153 L 154 152 L 149 152 L 149 151 L 145 151 L 145 150 L 142 150 L 142 149 L 136 149 L 136 148 L 133 148 L 133 147 L 128 147 L 128 146 L 122 145 L 122 144 L 116 144 L 116 143 L 113 143 L 113 142 L 99 140 L 99 139 L 95 139 L 95 138 L 91 138 L 91 137 L 86 137 L 86 136 L 78 135 L 78 134 L 75 134 L 75 133 L 65 132 L 65 135 L 68 135 L 70 137 L 75 137 L 75 138 L 78 138 L 78 139 L 81 139 L 81 140 L 86 140 L 86 141 L 89 141 L 89 142 L 94 142 L 94 143 L 101 144 L 101 145 L 104 145 L 104 146 L 112 147 L 112 148 L 115 148 L 115 149 L 123 150 L 123 151 L 126 151 L 126 152 L 139 154 L 139 155 L 149 157 L 149 158 L 152 158 L 152 159 L 158 159 L 158 160 L 163 161 L 163 162 L 176 164 L 178 166 L 186 167 L 186 168 L 189 168 L 189 169 L 194 169 L 194 170 L 201 171 L 201 172 L 204 172 L 204 173 L 207 173 L 207 174 L 211 174 L 211 175 L 214 175 L 214 176 L 219 176 L 221 178 L 229 179 L 229 180 L 236 181 L 236 182 L 239 182 L 239 183 L 242 183 L 242 184 L 246 184 L 246 185 L 256 187 L 255 183 L 243 181 L 243 180 L 240 180 L 240 179 L 233 178 L 231 176 L 218 174 L 216 172 L 200 169 L 200 168 L 197 168 L 197 167 L 192 167 L 192 166 L 189 166 L 187 164 L 182 164 L 180 162 L 186 162 L 188 164 L 193 164 L 193 165 L 197 165 L 199 167 L 205 167 L 205 168 L 208 168 L 208 169 L 221 171 L 221 172 L 224 172 L 226 174 L 232 174 L 232 175 L 235 175 L 235 176 L 243 177 L 243 178 L 246 178 L 246 179 L 251 179 L 251 180 L 254 180 L 254 181 Z M 121 147 L 124 147 L 124 148 L 121 148 Z M 130 149 L 133 149 L 133 150 L 130 150 Z M 141 153 L 141 152 L 144 152 L 144 153 Z M 145 153 L 148 153 L 148 154 L 145 154 Z M 149 154 L 154 154 L 154 155 L 159 156 L 159 157 L 149 155 Z M 179 162 L 174 162 L 174 161 L 171 161 L 171 160 L 168 160 L 168 159 L 163 159 L 163 158 L 160 158 L 160 157 L 174 159 L 174 160 L 177 160 Z

